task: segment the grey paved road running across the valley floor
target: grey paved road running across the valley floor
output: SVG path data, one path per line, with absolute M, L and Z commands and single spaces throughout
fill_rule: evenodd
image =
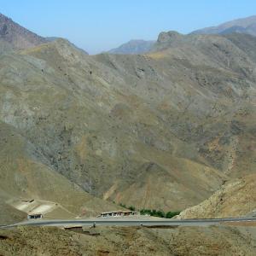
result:
M 207 226 L 212 224 L 220 224 L 224 222 L 242 222 L 256 221 L 256 218 L 205 218 L 205 219 L 166 219 L 148 220 L 140 218 L 87 218 L 87 219 L 58 219 L 58 220 L 29 220 L 17 224 L 2 226 L 1 228 L 11 228 L 15 226 L 92 226 L 93 224 L 105 226 Z

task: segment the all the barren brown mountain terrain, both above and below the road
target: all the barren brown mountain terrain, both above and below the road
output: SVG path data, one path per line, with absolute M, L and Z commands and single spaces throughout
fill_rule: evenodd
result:
M 240 21 L 88 55 L 0 15 L 0 225 L 255 217 L 256 38 Z M 0 229 L 0 254 L 255 255 L 253 225 Z

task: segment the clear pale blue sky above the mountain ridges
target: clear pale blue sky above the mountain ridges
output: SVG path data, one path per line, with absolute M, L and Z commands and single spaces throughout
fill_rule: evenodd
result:
M 191 32 L 249 15 L 255 0 L 0 0 L 0 12 L 41 36 L 67 38 L 90 54 L 162 31 Z

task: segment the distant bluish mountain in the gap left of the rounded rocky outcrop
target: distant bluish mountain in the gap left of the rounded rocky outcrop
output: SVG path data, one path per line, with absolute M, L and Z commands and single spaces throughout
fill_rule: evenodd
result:
M 154 41 L 131 40 L 120 45 L 118 48 L 110 49 L 108 53 L 119 55 L 135 55 L 148 52 L 154 45 Z

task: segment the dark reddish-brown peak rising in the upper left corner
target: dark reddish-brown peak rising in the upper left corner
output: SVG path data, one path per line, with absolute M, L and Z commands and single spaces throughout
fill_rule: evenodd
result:
M 45 38 L 28 31 L 2 14 L 0 14 L 0 41 L 9 44 L 13 49 L 27 49 L 47 42 Z

